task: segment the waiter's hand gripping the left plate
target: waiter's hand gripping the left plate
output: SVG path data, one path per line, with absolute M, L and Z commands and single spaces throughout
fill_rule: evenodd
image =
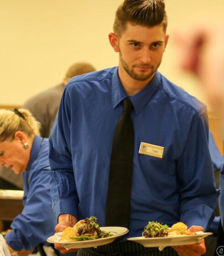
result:
M 55 227 L 55 231 L 62 232 L 67 227 L 73 227 L 77 223 L 77 219 L 70 214 L 59 215 L 59 224 Z M 54 248 L 59 250 L 62 254 L 66 254 L 72 251 L 78 251 L 79 249 L 71 249 L 67 251 L 62 245 L 54 244 Z

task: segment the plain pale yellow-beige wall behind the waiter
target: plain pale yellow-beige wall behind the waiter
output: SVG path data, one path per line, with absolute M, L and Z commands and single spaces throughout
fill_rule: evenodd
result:
M 0 105 L 20 105 L 56 85 L 76 61 L 89 61 L 96 69 L 117 65 L 107 35 L 121 2 L 0 0 Z M 165 0 L 165 4 L 171 38 L 160 71 L 205 101 L 197 80 L 178 69 L 172 32 L 199 14 L 222 14 L 224 0 Z

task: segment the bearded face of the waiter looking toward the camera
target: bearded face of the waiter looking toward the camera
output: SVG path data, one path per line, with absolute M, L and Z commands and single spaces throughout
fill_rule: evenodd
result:
M 138 81 L 151 80 L 160 66 L 168 36 L 163 27 L 127 24 L 118 39 L 119 75 L 127 73 Z

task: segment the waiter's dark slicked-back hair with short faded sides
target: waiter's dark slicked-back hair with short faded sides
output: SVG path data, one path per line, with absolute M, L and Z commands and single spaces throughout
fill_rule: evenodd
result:
M 116 12 L 113 31 L 118 37 L 127 28 L 127 23 L 143 27 L 154 27 L 162 24 L 167 27 L 167 16 L 164 0 L 124 0 Z

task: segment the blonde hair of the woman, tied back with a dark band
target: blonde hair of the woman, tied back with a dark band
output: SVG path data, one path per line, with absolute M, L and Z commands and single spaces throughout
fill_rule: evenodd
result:
M 21 131 L 28 138 L 40 135 L 40 123 L 27 109 L 14 109 L 14 111 L 0 109 L 0 142 L 13 140 L 17 131 Z

